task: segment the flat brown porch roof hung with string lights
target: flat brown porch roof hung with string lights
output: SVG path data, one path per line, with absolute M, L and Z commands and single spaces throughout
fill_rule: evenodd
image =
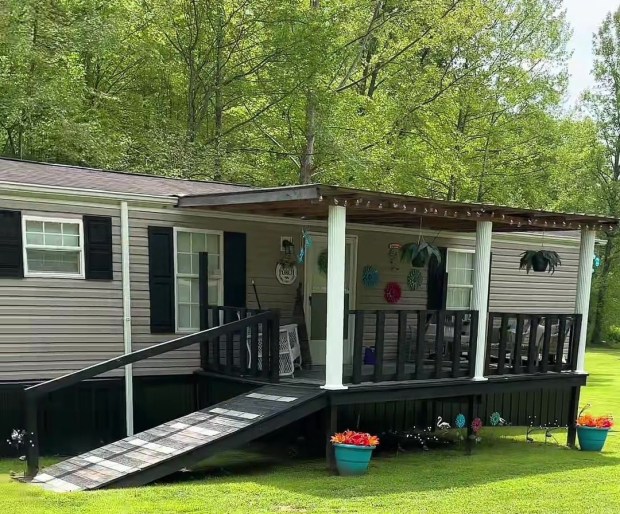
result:
M 498 232 L 618 229 L 617 218 L 584 213 L 520 209 L 485 203 L 436 200 L 323 184 L 249 189 L 216 194 L 180 196 L 178 207 L 220 212 L 327 220 L 330 205 L 347 207 L 350 223 L 476 230 L 477 221 L 492 221 Z

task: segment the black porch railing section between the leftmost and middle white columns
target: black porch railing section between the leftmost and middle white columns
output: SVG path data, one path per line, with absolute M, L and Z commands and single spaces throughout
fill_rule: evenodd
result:
M 477 311 L 353 310 L 349 316 L 348 383 L 474 376 Z

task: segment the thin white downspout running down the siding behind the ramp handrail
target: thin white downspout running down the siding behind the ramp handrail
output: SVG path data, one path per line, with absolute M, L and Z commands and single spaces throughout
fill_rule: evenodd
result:
M 131 279 L 129 272 L 129 208 L 121 202 L 121 276 L 123 281 L 123 342 L 131 353 Z M 125 366 L 125 421 L 127 435 L 133 435 L 133 366 Z

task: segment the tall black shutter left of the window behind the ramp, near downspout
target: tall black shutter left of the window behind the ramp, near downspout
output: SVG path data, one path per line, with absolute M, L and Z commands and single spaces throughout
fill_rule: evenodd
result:
M 174 245 L 171 227 L 149 227 L 151 332 L 171 333 L 174 320 Z

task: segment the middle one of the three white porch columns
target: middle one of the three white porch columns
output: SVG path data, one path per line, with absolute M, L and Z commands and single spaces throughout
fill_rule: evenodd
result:
M 478 311 L 478 332 L 476 344 L 476 367 L 474 380 L 487 380 L 484 376 L 484 362 L 487 348 L 487 319 L 489 310 L 489 276 L 491 271 L 491 234 L 493 223 L 476 223 L 476 250 L 474 254 L 474 289 L 471 308 Z M 474 341 L 470 341 L 470 345 Z

